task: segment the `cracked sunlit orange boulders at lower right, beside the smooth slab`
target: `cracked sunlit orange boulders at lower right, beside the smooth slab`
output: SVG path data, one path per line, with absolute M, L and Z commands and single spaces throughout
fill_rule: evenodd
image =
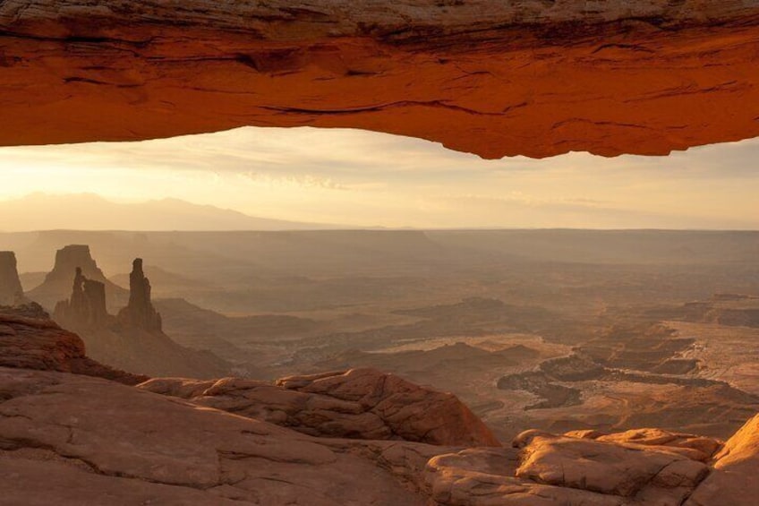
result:
M 700 451 L 682 443 L 719 446 L 654 429 L 601 437 L 527 431 L 514 442 L 518 453 L 470 449 L 439 455 L 428 462 L 426 481 L 435 503 L 450 506 L 679 506 L 699 493 L 710 473 Z M 730 502 L 750 503 L 747 498 Z

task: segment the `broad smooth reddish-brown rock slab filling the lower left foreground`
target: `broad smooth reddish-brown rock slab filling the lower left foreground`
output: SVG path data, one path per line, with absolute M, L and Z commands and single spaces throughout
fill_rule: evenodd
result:
M 63 373 L 0 368 L 0 390 L 2 504 L 426 504 L 405 480 L 436 447 L 319 440 Z

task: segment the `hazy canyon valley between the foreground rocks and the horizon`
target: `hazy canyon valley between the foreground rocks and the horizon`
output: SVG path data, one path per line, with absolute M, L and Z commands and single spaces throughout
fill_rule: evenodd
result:
M 28 282 L 50 251 L 91 243 L 124 287 L 131 273 L 114 273 L 144 256 L 135 287 L 150 278 L 161 332 L 119 321 L 127 290 L 107 315 L 80 313 L 105 324 L 55 314 L 90 356 L 133 373 L 274 382 L 374 368 L 454 393 L 500 441 L 641 426 L 727 439 L 759 411 L 759 334 L 739 325 L 755 308 L 757 237 L 57 231 L 0 235 L 0 249 L 17 250 Z M 61 300 L 78 297 L 71 276 Z

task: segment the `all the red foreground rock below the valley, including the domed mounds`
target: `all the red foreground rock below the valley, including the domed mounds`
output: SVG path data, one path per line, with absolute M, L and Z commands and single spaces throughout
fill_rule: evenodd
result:
M 134 388 L 59 372 L 82 350 L 72 354 L 75 336 L 39 308 L 6 310 L 5 325 L 3 504 L 747 506 L 759 493 L 756 417 L 724 443 L 657 429 L 528 431 L 508 448 L 453 396 L 371 370 L 278 386 L 156 379 Z M 332 416 L 340 403 L 347 413 L 384 405 L 385 423 L 401 430 L 315 437 L 261 419 L 294 394 L 313 417 L 324 404 Z

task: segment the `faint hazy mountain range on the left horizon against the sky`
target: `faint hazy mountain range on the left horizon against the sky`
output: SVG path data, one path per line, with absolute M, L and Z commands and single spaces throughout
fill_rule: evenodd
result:
M 32 193 L 0 202 L 0 231 L 31 230 L 320 230 L 337 225 L 249 216 L 176 199 L 118 203 L 93 193 Z

